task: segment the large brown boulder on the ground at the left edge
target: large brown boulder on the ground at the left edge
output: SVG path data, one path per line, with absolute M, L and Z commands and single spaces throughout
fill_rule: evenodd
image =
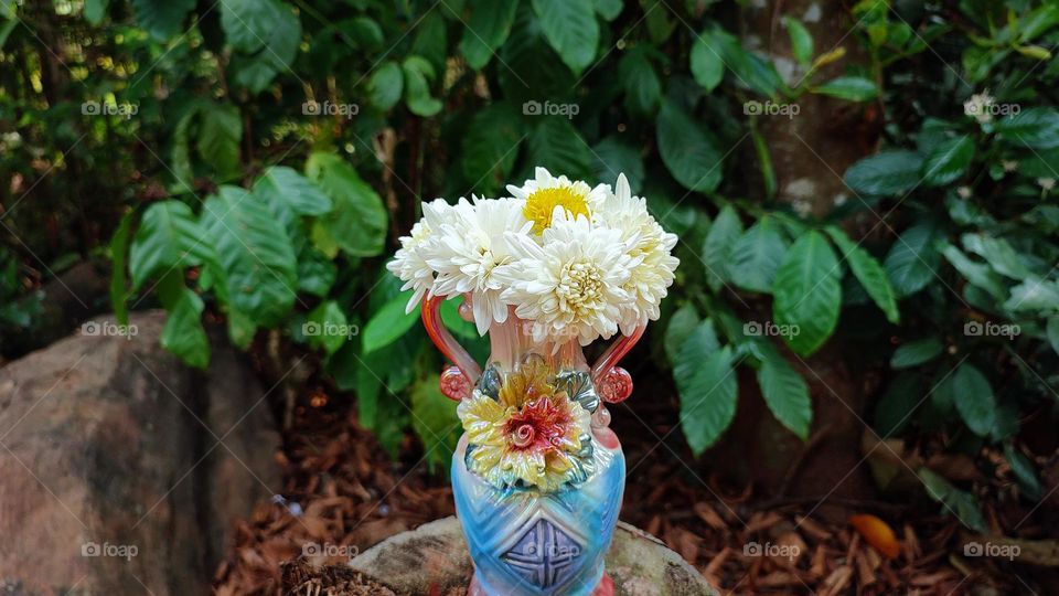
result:
M 220 342 L 208 371 L 162 350 L 162 312 L 96 323 L 0 369 L 0 588 L 207 593 L 231 522 L 280 489 L 264 392 Z

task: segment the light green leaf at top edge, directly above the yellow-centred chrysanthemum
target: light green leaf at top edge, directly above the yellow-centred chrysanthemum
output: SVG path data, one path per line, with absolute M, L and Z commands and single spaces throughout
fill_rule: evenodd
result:
M 592 0 L 532 0 L 548 44 L 575 75 L 596 57 L 599 23 Z

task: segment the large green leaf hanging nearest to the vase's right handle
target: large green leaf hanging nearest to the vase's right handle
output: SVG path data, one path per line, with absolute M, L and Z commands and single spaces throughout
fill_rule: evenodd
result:
M 738 386 L 731 348 L 704 353 L 695 336 L 681 350 L 674 368 L 681 395 L 681 428 L 698 457 L 720 438 L 736 414 Z

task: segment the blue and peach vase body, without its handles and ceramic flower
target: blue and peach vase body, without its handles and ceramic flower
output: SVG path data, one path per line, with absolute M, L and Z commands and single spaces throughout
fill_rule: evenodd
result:
M 480 473 L 481 466 L 474 469 L 469 450 L 483 447 L 469 445 L 471 434 L 463 435 L 451 473 L 457 514 L 474 562 L 471 594 L 606 593 L 597 588 L 621 509 L 624 456 L 607 427 L 609 415 L 581 347 L 577 341 L 535 341 L 527 326 L 511 317 L 491 327 L 491 355 L 474 394 L 480 398 L 483 392 L 503 394 L 512 385 L 533 392 L 518 380 L 543 379 L 548 392 L 561 393 L 571 409 L 591 421 L 574 456 L 576 466 L 584 469 L 541 485 L 501 482 Z M 517 424 L 512 435 L 517 435 Z

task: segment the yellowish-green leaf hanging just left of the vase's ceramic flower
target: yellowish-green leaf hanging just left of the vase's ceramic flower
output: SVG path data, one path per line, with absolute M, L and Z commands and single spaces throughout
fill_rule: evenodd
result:
M 427 467 L 445 467 L 460 439 L 460 418 L 456 404 L 439 387 L 440 376 L 432 374 L 411 390 L 411 427 L 426 449 Z

